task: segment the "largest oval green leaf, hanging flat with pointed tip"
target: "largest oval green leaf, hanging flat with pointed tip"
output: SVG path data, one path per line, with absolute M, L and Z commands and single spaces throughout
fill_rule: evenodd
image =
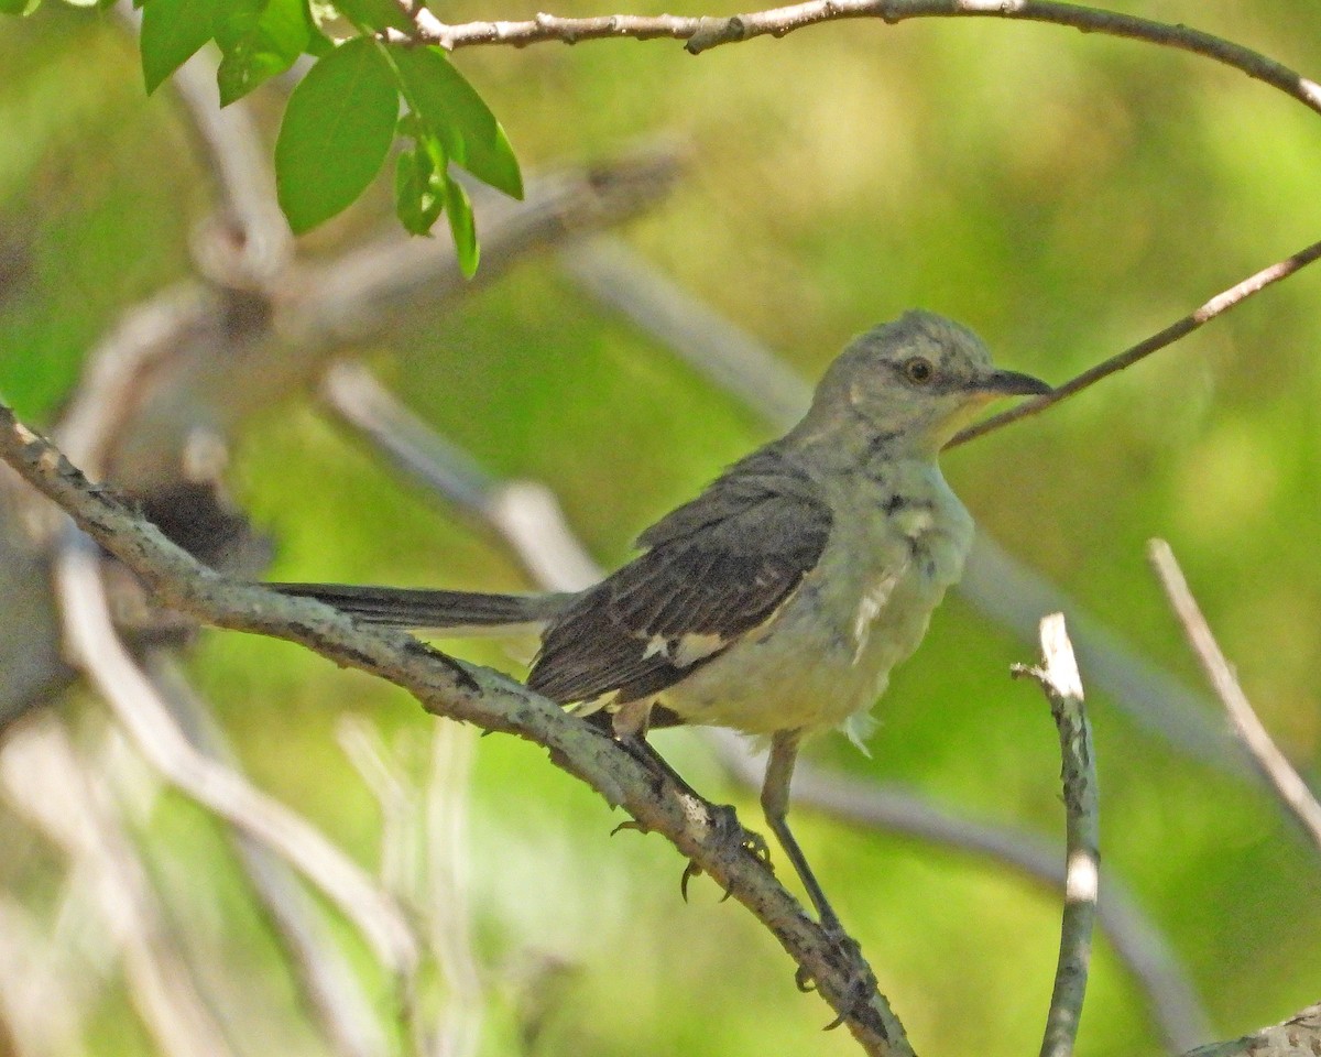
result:
M 362 194 L 386 160 L 398 116 L 390 63 L 373 41 L 351 40 L 308 71 L 275 144 L 276 193 L 296 234 Z

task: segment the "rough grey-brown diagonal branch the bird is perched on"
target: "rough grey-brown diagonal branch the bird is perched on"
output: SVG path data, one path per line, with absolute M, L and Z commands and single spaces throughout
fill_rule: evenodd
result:
M 550 750 L 551 760 L 666 836 L 744 904 L 810 976 L 864 1052 L 910 1054 L 902 1027 L 878 992 L 860 1000 L 860 966 L 808 918 L 764 864 L 724 834 L 711 805 L 680 794 L 608 735 L 486 669 L 460 665 L 412 636 L 355 625 L 310 600 L 230 581 L 170 543 L 110 489 L 94 485 L 48 440 L 0 404 L 0 460 L 53 499 L 83 531 L 143 579 L 166 605 L 218 628 L 303 645 L 343 667 L 384 678 L 429 712 L 511 733 Z M 869 972 L 869 970 L 867 970 Z

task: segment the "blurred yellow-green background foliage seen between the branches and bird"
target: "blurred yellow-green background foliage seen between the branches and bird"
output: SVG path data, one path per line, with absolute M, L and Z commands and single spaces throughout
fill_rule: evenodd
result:
M 1132 0 L 1305 74 L 1314 0 Z M 675 13 L 704 13 L 691 0 Z M 456 0 L 444 17 L 530 17 Z M 556 13 L 598 13 L 572 0 Z M 1172 50 L 1050 26 L 848 21 L 721 48 L 655 41 L 472 49 L 456 63 L 524 169 L 589 161 L 655 135 L 692 144 L 678 192 L 625 233 L 674 281 L 815 378 L 855 332 L 921 305 L 974 326 L 1001 363 L 1058 382 L 1164 326 L 1321 233 L 1321 119 Z M 144 99 L 135 42 L 107 15 L 48 5 L 0 22 L 0 391 L 50 423 L 89 347 L 189 273 L 211 201 L 185 116 Z M 256 96 L 273 122 L 279 89 Z M 388 213 L 374 190 L 309 252 Z M 1316 774 L 1321 753 L 1321 270 L 1300 273 L 1040 419 L 951 453 L 983 531 L 1199 686 L 1144 560 L 1169 539 L 1267 725 Z M 483 468 L 547 484 L 604 565 L 769 428 L 631 325 L 553 255 L 444 317 L 363 349 L 383 381 Z M 518 589 L 518 565 L 329 423 L 309 399 L 243 437 L 231 482 L 276 540 L 272 579 Z M 449 643 L 446 643 L 449 645 Z M 519 651 L 452 643 L 519 673 Z M 812 756 L 900 782 L 959 814 L 1058 839 L 1058 758 L 1040 695 L 1008 680 L 1034 645 L 958 597 L 878 710 L 872 758 Z M 408 758 L 416 703 L 293 646 L 211 632 L 197 684 L 266 789 L 359 861 L 380 819 L 337 739 L 365 716 Z M 1087 673 L 1083 671 L 1086 680 Z M 63 706 L 82 723 L 96 708 Z M 1321 991 L 1314 856 L 1255 784 L 1190 761 L 1091 696 L 1103 855 L 1185 959 L 1227 1037 Z M 691 733 L 659 744 L 699 789 L 756 801 Z M 411 747 L 411 748 L 410 748 Z M 416 762 L 416 761 L 415 761 Z M 420 765 L 417 765 L 420 766 Z M 416 769 L 416 768 L 415 768 Z M 470 850 L 482 1053 L 518 1052 L 546 1005 L 544 1054 L 849 1053 L 824 1007 L 709 883 L 679 900 L 680 860 L 544 754 L 476 748 Z M 153 879 L 242 1053 L 324 1052 L 214 822 L 177 795 L 136 818 Z M 59 860 L 9 820 L 0 881 L 42 906 Z M 810 810 L 797 830 L 919 1052 L 1024 1053 L 1049 998 L 1058 900 L 993 863 L 863 832 Z M 388 980 L 343 942 L 392 1013 Z M 1091 1057 L 1156 1052 L 1133 982 L 1100 942 L 1082 1025 Z M 553 970 L 553 971 L 552 971 Z M 520 983 L 522 982 L 522 983 Z M 152 1052 L 110 988 L 89 1052 Z

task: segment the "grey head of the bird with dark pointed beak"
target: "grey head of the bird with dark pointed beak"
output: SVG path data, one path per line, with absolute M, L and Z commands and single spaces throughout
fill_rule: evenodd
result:
M 803 424 L 818 435 L 934 456 L 991 400 L 1046 392 L 1050 386 L 1032 375 L 997 370 L 966 326 L 914 310 L 849 342 Z

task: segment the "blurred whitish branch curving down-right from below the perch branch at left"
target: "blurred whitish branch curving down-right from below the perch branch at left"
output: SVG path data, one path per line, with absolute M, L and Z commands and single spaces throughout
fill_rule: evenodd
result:
M 202 756 L 180 732 L 111 621 L 98 556 L 70 542 L 57 558 L 71 653 L 143 754 L 178 789 L 277 851 L 336 902 L 400 976 L 417 962 L 407 922 L 345 854 L 304 818 L 238 772 Z

